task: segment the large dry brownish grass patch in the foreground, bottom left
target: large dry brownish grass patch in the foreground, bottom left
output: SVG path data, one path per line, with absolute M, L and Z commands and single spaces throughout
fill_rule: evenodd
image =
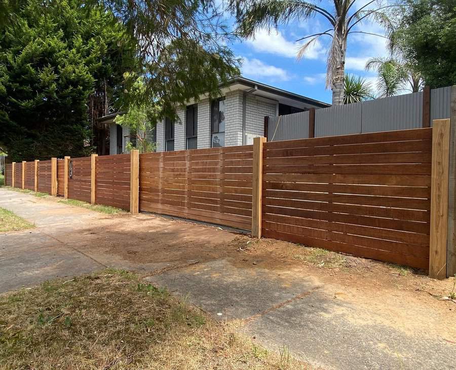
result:
M 0 295 L 0 331 L 2 369 L 306 368 L 112 269 Z

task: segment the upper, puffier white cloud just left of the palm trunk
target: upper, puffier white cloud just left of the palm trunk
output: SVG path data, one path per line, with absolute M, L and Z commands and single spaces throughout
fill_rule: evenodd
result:
M 287 58 L 295 58 L 299 48 L 305 44 L 289 41 L 280 31 L 271 30 L 268 32 L 264 28 L 257 30 L 254 38 L 246 40 L 245 43 L 257 52 L 276 54 Z M 324 53 L 324 48 L 317 40 L 307 49 L 304 58 L 319 59 Z

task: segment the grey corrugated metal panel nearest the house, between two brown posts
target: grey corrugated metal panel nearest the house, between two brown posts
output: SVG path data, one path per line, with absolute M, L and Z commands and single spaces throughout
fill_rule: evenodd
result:
M 277 130 L 276 127 L 279 117 L 269 118 L 268 141 L 307 139 L 309 137 L 308 111 L 280 117 L 282 118 L 280 119 Z

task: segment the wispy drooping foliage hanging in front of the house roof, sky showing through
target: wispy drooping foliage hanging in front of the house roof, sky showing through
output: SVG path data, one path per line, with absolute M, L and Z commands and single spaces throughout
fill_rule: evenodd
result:
M 138 45 L 144 69 L 142 100 L 153 100 L 161 116 L 239 75 L 239 60 L 227 47 L 234 35 L 214 0 L 107 0 Z M 127 90 L 136 82 L 127 81 Z M 129 94 L 129 96 L 133 96 Z M 137 94 L 135 101 L 140 98 Z M 130 100 L 130 102 L 132 102 Z

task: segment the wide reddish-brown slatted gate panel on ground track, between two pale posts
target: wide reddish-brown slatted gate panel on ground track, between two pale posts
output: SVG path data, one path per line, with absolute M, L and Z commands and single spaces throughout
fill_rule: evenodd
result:
M 139 155 L 139 208 L 250 230 L 253 145 Z

